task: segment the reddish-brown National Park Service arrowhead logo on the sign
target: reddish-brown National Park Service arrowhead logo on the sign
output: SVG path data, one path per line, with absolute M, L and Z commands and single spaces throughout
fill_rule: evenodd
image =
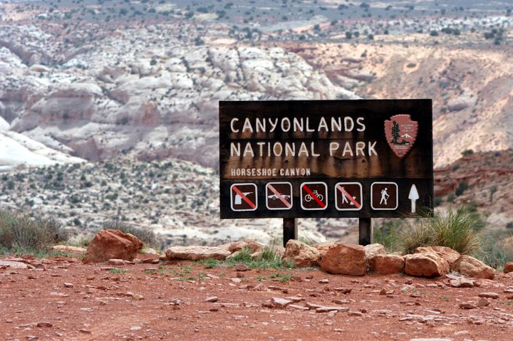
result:
M 415 143 L 418 122 L 412 121 L 410 115 L 395 115 L 385 120 L 385 137 L 395 155 L 402 159 Z

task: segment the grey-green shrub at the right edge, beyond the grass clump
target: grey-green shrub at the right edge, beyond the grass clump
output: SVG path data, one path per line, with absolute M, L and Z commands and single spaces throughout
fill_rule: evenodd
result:
M 502 268 L 513 261 L 513 248 L 504 243 L 504 239 L 512 236 L 510 231 L 490 231 L 481 237 L 481 248 L 473 256 L 492 268 Z

